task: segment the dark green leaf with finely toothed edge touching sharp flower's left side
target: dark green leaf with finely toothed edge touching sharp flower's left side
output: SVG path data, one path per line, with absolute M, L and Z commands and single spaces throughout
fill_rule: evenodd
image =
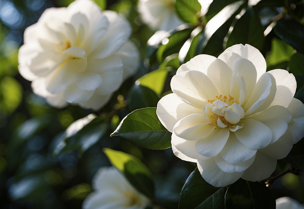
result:
M 156 108 L 143 108 L 127 115 L 111 136 L 124 137 L 147 149 L 171 147 L 171 133 L 161 124 Z

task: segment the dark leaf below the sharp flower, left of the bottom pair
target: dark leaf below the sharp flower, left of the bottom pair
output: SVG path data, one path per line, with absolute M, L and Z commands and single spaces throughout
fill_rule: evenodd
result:
M 179 209 L 221 209 L 224 208 L 226 187 L 214 187 L 207 183 L 198 168 L 189 175 L 181 190 Z

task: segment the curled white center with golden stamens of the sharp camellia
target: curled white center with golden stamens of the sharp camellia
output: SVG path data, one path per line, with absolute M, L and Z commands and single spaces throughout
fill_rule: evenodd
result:
M 235 131 L 245 125 L 241 121 L 245 112 L 232 96 L 228 96 L 219 95 L 214 100 L 208 100 L 210 104 L 203 107 L 204 117 L 209 126 L 225 128 L 229 125 L 229 129 Z

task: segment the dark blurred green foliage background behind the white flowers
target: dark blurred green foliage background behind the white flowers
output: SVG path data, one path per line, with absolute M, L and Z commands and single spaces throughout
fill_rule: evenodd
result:
M 73 138 L 76 143 L 69 143 L 58 151 L 57 145 L 62 141 L 64 130 L 92 111 L 72 105 L 64 109 L 47 105 L 43 98 L 33 94 L 30 82 L 19 75 L 17 54 L 25 28 L 35 23 L 44 9 L 67 6 L 72 0 L 0 0 L 0 206 L 3 209 L 81 208 L 83 199 L 92 191 L 91 180 L 95 172 L 102 166 L 111 165 L 102 151 L 104 147 L 139 158 L 154 175 L 156 202 L 166 208 L 177 208 L 181 188 L 196 164 L 180 160 L 171 149 L 148 150 L 119 136 L 110 137 L 110 134 L 131 111 L 155 107 L 160 96 L 170 90 L 171 76 L 180 61 L 187 61 L 195 54 L 218 56 L 225 47 L 245 41 L 243 44 L 255 46 L 266 57 L 268 70 L 287 69 L 295 75 L 298 86 L 295 97 L 303 102 L 303 51 L 300 51 L 303 48 L 303 1 L 262 0 L 259 6 L 247 8 L 245 15 L 238 19 L 232 15 L 207 44 L 199 35 L 192 33 L 194 25 L 199 23 L 190 19 L 188 22 L 193 24 L 179 31 L 178 36 L 174 36 L 178 31 L 171 31 L 168 35 L 171 45 L 159 43 L 149 47 L 146 43 L 154 31 L 140 20 L 136 0 L 95 1 L 103 9 L 115 10 L 129 19 L 133 27 L 131 40 L 140 49 L 142 63 L 136 76 L 123 84 L 102 111 L 95 112 L 103 121 L 105 133 L 101 133 L 104 134 L 102 138 L 96 139 L 95 144 Z M 235 1 L 221 2 L 228 5 Z M 213 14 L 209 12 L 204 20 L 208 21 L 217 12 L 216 9 Z M 270 30 L 266 36 L 263 35 L 273 21 L 285 16 L 300 24 L 295 27 L 299 33 L 290 38 L 292 43 L 286 41 L 286 34 L 280 36 L 282 31 L 290 31 L 284 28 L 286 25 L 282 30 L 278 28 L 277 33 Z M 198 31 L 200 34 L 201 30 Z M 230 37 L 226 37 L 227 32 Z M 190 47 L 186 56 L 178 57 L 177 53 L 186 40 L 203 47 Z M 226 46 L 223 46 L 223 40 L 226 40 Z M 133 85 L 138 78 L 160 66 L 166 67 L 167 73 L 160 84 L 164 89 L 161 88 L 158 94 L 155 89 Z M 92 129 L 87 128 L 81 134 L 90 131 Z M 303 149 L 301 143 L 303 140 L 299 143 L 300 151 Z M 86 145 L 88 150 L 79 151 Z M 278 160 L 274 174 L 289 167 L 286 161 Z M 271 191 L 276 198 L 290 196 L 303 203 L 303 176 L 284 175 L 275 181 Z

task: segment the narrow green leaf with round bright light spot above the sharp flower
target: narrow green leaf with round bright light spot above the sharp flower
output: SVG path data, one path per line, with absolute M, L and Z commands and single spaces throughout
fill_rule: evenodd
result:
M 164 61 L 165 57 L 179 51 L 185 41 L 189 38 L 192 30 L 192 28 L 187 28 L 163 39 L 156 52 L 157 62 L 161 63 Z

